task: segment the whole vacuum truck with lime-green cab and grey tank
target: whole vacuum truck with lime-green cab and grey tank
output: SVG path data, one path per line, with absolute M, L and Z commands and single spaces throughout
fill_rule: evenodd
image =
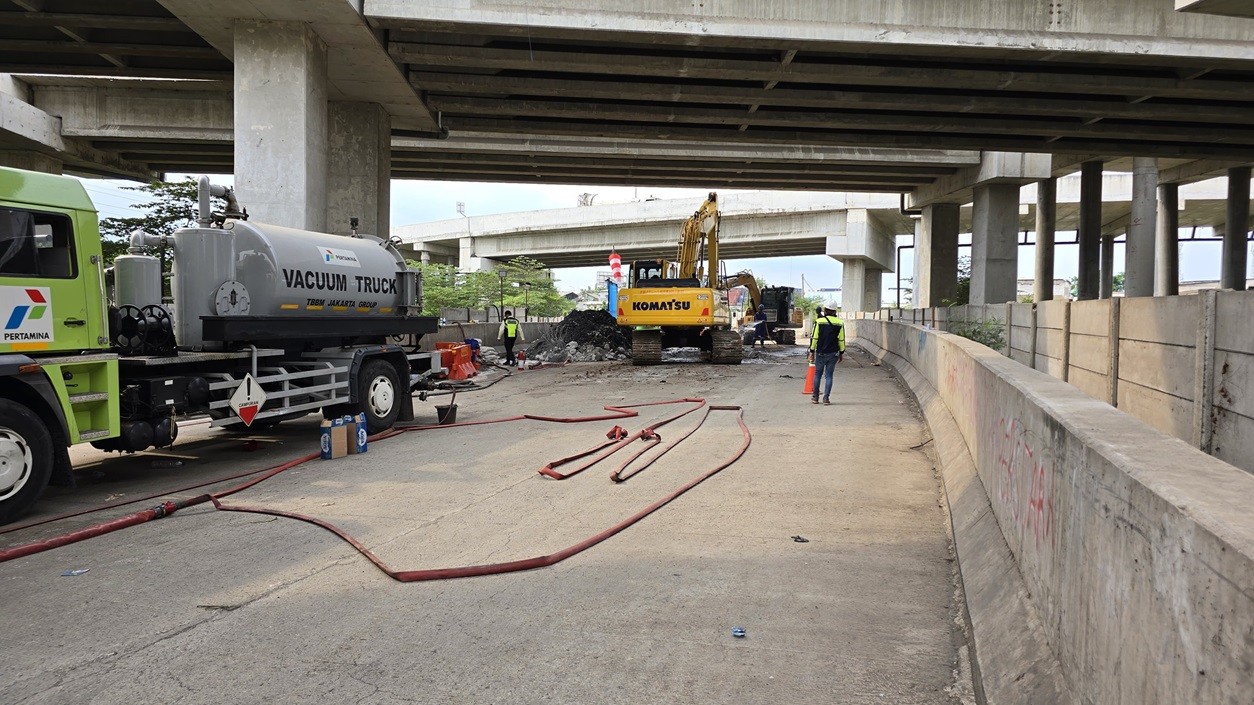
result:
M 0 524 L 71 480 L 76 443 L 167 447 L 189 414 L 365 413 L 371 433 L 414 418 L 411 366 L 428 360 L 389 340 L 438 322 L 393 243 L 250 222 L 229 189 L 199 187 L 196 227 L 132 235 L 110 301 L 83 186 L 0 168 Z M 154 246 L 173 252 L 172 302 Z

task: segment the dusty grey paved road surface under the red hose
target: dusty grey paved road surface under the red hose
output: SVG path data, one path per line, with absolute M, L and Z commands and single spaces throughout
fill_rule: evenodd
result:
M 461 421 L 682 396 L 745 408 L 754 440 L 740 462 L 549 568 L 404 585 L 321 528 L 208 506 L 3 563 L 0 702 L 957 702 L 947 519 L 928 448 L 914 448 L 927 432 L 865 358 L 840 366 L 831 406 L 800 394 L 804 375 L 804 358 L 777 349 L 735 368 L 533 370 L 459 395 Z M 420 413 L 434 418 L 429 404 Z M 406 433 L 232 502 L 316 514 L 403 570 L 545 554 L 740 443 L 734 415 L 714 413 L 624 484 L 607 478 L 611 463 L 564 482 L 535 472 L 614 423 L 635 430 L 670 413 Z M 256 437 L 187 427 L 159 454 L 76 449 L 80 487 L 54 489 L 26 521 L 316 445 L 308 418 Z M 0 546 L 130 509 L 6 533 Z M 90 570 L 61 576 L 75 568 Z

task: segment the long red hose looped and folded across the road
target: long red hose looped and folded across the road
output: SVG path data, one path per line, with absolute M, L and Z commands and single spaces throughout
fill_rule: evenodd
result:
M 744 434 L 744 440 L 742 440 L 742 443 L 740 445 L 740 449 L 736 453 L 734 453 L 729 459 L 726 459 L 725 462 L 722 462 L 721 464 L 719 464 L 717 467 L 712 468 L 711 470 L 707 470 L 706 473 L 703 473 L 702 475 L 697 477 L 696 479 L 686 483 L 685 485 L 680 487 L 678 489 L 676 489 L 671 494 L 663 497 L 662 499 L 658 499 L 657 502 L 653 502 L 648 507 L 645 507 L 643 509 L 641 509 L 636 514 L 632 514 L 631 517 L 628 517 L 628 518 L 623 519 L 622 522 L 619 522 L 619 523 L 617 523 L 617 524 L 607 528 L 606 531 L 602 531 L 601 533 L 598 533 L 596 536 L 592 536 L 592 537 L 589 537 L 589 538 L 587 538 L 584 541 L 581 541 L 581 542 L 578 542 L 578 543 L 576 543 L 576 544 L 573 544 L 571 547 L 567 547 L 567 548 L 564 548 L 562 551 L 558 551 L 557 553 L 551 553 L 548 556 L 537 556 L 537 557 L 533 557 L 533 558 L 524 558 L 524 559 L 520 559 L 520 561 L 509 561 L 509 562 L 504 562 L 504 563 L 488 563 L 488 565 L 480 565 L 480 566 L 464 566 L 464 567 L 454 567 L 454 568 L 431 568 L 431 570 L 421 570 L 421 571 L 396 571 L 396 570 L 391 568 L 390 566 L 387 566 L 387 563 L 385 563 L 381 558 L 379 558 L 374 552 L 371 552 L 369 548 L 366 548 L 364 544 L 361 544 L 361 542 L 359 542 L 356 538 L 354 538 L 352 536 L 347 534 L 346 532 L 344 532 L 342 529 L 340 529 L 335 524 L 331 524 L 330 522 L 326 522 L 324 519 L 319 519 L 316 517 L 308 517 L 308 516 L 305 516 L 305 514 L 297 514 L 295 512 L 285 512 L 285 511 L 281 511 L 281 509 L 271 509 L 271 508 L 265 508 L 265 507 L 228 506 L 228 504 L 223 504 L 221 502 L 222 498 L 226 498 L 226 497 L 229 497 L 229 496 L 236 494 L 238 492 L 242 492 L 245 489 L 248 489 L 250 487 L 253 487 L 253 485 L 256 485 L 256 484 L 258 484 L 261 482 L 265 482 L 265 480 L 267 480 L 267 479 L 270 479 L 270 478 L 272 478 L 272 477 L 275 477 L 275 475 L 277 475 L 277 474 L 280 474 L 280 473 L 282 473 L 285 470 L 288 470 L 291 468 L 295 468 L 297 465 L 307 463 L 308 460 L 312 460 L 314 458 L 319 457 L 319 453 L 310 453 L 308 455 L 303 455 L 301 458 L 296 458 L 293 460 L 288 460 L 287 463 L 283 463 L 281 465 L 276 465 L 276 467 L 270 468 L 267 470 L 257 470 L 255 473 L 246 473 L 246 474 L 256 474 L 256 473 L 261 473 L 261 474 L 260 474 L 260 477 L 250 479 L 248 482 L 245 482 L 245 483 L 242 483 L 240 485 L 236 485 L 233 488 L 226 489 L 223 492 L 218 492 L 218 493 L 213 493 L 213 494 L 202 494 L 199 497 L 193 497 L 191 499 L 184 499 L 184 501 L 179 501 L 179 502 L 166 502 L 163 504 L 158 504 L 157 507 L 153 507 L 153 508 L 149 508 L 149 509 L 143 509 L 140 512 L 135 512 L 135 513 L 128 514 L 125 517 L 120 517 L 120 518 L 117 518 L 117 519 L 112 519 L 109 522 L 104 522 L 104 523 L 95 524 L 95 526 L 92 526 L 92 527 L 87 527 L 87 528 L 83 528 L 83 529 L 79 529 L 79 531 L 74 531 L 74 532 L 70 532 L 70 533 L 66 533 L 66 534 L 63 534 L 63 536 L 58 536 L 58 537 L 53 537 L 53 538 L 49 538 L 49 539 L 45 539 L 45 541 L 38 541 L 38 542 L 28 543 L 28 544 L 24 544 L 24 546 L 16 546 L 14 548 L 0 551 L 0 563 L 6 562 L 6 561 L 11 561 L 11 559 L 15 559 L 15 558 L 20 558 L 20 557 L 24 557 L 24 556 L 30 556 L 30 554 L 34 554 L 34 553 L 40 553 L 43 551 L 49 551 L 49 549 L 53 549 L 53 548 L 58 548 L 58 547 L 66 546 L 66 544 L 70 544 L 70 543 L 75 543 L 75 542 L 79 542 L 79 541 L 85 541 L 88 538 L 93 538 L 93 537 L 97 537 L 97 536 L 103 536 L 105 533 L 112 533 L 114 531 L 119 531 L 119 529 L 123 529 L 123 528 L 127 528 L 127 527 L 132 527 L 132 526 L 135 526 L 135 524 L 149 522 L 152 519 L 159 519 L 162 517 L 168 517 L 169 514 L 173 514 L 174 512 L 177 512 L 179 509 L 183 509 L 186 507 L 192 507 L 194 504 L 201 504 L 203 502 L 212 502 L 213 506 L 214 506 L 214 508 L 217 508 L 219 511 L 224 511 L 224 512 L 250 512 L 250 513 L 260 513 L 260 514 L 272 514 L 272 516 L 277 516 L 277 517 L 287 517 L 287 518 L 292 518 L 292 519 L 298 519 L 298 521 L 302 521 L 302 522 L 307 522 L 307 523 L 322 527 L 322 528 L 330 531 L 331 533 L 335 533 L 336 536 L 339 536 L 344 541 L 346 541 L 349 544 L 351 544 L 354 548 L 356 548 L 359 552 L 361 552 L 362 556 L 365 556 L 367 559 L 370 559 L 370 562 L 372 562 L 376 567 L 379 567 L 379 570 L 384 571 L 387 576 L 390 576 L 390 577 L 393 577 L 393 578 L 395 578 L 395 580 L 398 580 L 400 582 L 420 582 L 420 581 L 445 580 L 445 578 L 458 578 L 458 577 L 487 576 L 487 575 L 508 573 L 508 572 L 515 572 L 515 571 L 527 571 L 527 570 L 533 570 L 533 568 L 540 568 L 540 567 L 545 567 L 545 566 L 552 566 L 552 565 L 554 565 L 554 563 L 557 563 L 559 561 L 569 558 L 571 556 L 574 556 L 577 553 L 587 551 L 588 548 L 591 548 L 591 547 L 601 543 L 602 541 L 604 541 L 604 539 L 607 539 L 607 538 L 609 538 L 609 537 L 619 533 L 621 531 L 631 527 L 636 522 L 640 522 L 645 517 L 652 514 L 657 509 L 660 509 L 660 508 L 665 507 L 666 504 L 671 503 L 672 501 L 675 501 L 681 494 L 688 492 L 690 489 L 692 489 L 697 484 L 701 484 L 702 482 L 705 482 L 706 479 L 714 477 L 716 473 L 719 473 L 724 468 L 726 468 L 726 467 L 731 465 L 732 463 L 735 463 L 736 460 L 739 460 L 745 454 L 745 452 L 749 449 L 749 444 L 752 440 L 752 435 L 749 432 L 749 427 L 745 425 L 742 409 L 740 406 L 715 406 L 715 405 L 706 405 L 705 399 L 686 398 L 686 399 L 672 399 L 672 400 L 668 400 L 668 401 L 650 401 L 650 403 L 643 403 L 643 404 L 630 404 L 630 405 L 622 405 L 622 406 L 607 405 L 607 406 L 604 406 L 604 409 L 607 411 L 609 411 L 609 414 L 599 414 L 599 415 L 594 415 L 594 416 L 563 418 L 563 416 L 542 416 L 542 415 L 535 415 L 535 414 L 520 414 L 520 415 L 517 415 L 517 416 L 508 416 L 508 418 L 504 418 L 504 419 L 489 419 L 489 420 L 482 420 L 482 421 L 464 421 L 464 423 L 458 423 L 458 424 L 444 424 L 444 425 L 436 424 L 436 425 L 416 425 L 416 427 L 406 427 L 406 428 L 395 428 L 395 429 L 380 433 L 380 434 L 375 435 L 371 439 L 371 440 L 376 440 L 377 442 L 377 440 L 391 438 L 394 435 L 399 435 L 401 433 L 406 433 L 406 432 L 410 432 L 410 430 L 434 430 L 434 429 L 446 429 L 446 428 L 455 428 L 455 427 L 498 424 L 498 423 L 515 421 L 515 420 L 539 420 L 539 421 L 548 421 L 548 423 L 588 423 L 588 421 L 597 421 L 597 420 L 624 419 L 624 418 L 632 418 L 632 416 L 637 416 L 638 415 L 638 413 L 633 411 L 632 409 L 638 409 L 638 408 L 643 408 L 643 406 L 657 406 L 657 405 L 663 405 L 663 404 L 683 404 L 683 403 L 696 404 L 696 406 L 693 406 L 692 409 L 688 409 L 686 411 L 682 411 L 682 413 L 675 414 L 672 416 L 668 416 L 668 418 L 666 418 L 666 419 L 663 419 L 663 420 L 661 420 L 661 421 L 658 421 L 658 423 L 656 423 L 656 424 L 653 424 L 651 427 L 646 427 L 645 429 L 641 429 L 640 432 L 636 432 L 635 434 L 626 434 L 626 432 L 623 432 L 622 428 L 614 427 L 614 429 L 611 430 L 611 433 L 608 434 L 609 435 L 609 440 L 607 440 L 606 443 L 602 443 L 602 444 L 599 444 L 599 445 L 597 445 L 597 447 L 594 447 L 594 448 L 592 448 L 589 450 L 584 450 L 583 453 L 579 453 L 577 455 L 571 455 L 571 457 L 563 458 L 561 460 L 551 462 L 547 465 L 544 465 L 544 468 L 540 469 L 540 473 L 543 473 L 543 474 L 545 474 L 548 477 L 552 477 L 554 479 L 566 479 L 566 478 L 569 478 L 569 477 L 572 477 L 574 474 L 578 474 L 579 472 L 583 472 L 588 467 L 592 467 L 597 462 L 599 462 L 599 460 L 602 460 L 604 458 L 608 458 L 609 455 L 612 455 L 613 453 L 618 452 L 619 449 L 626 448 L 628 444 L 631 444 L 636 439 L 643 438 L 643 439 L 646 439 L 646 440 L 650 442 L 650 445 L 647 445 L 643 450 L 633 454 L 631 458 L 628 458 L 611 475 L 614 479 L 614 482 L 624 482 L 628 478 L 638 474 L 640 472 L 645 470 L 646 468 L 648 468 L 650 465 L 652 465 L 653 463 L 656 463 L 662 455 L 665 455 L 667 452 L 672 450 L 676 445 L 678 445 L 685 439 L 687 439 L 690 435 L 692 435 L 698 428 L 701 428 L 701 425 L 710 416 L 710 411 L 716 411 L 716 410 L 720 410 L 720 411 L 736 411 L 737 413 L 736 414 L 736 423 L 740 425 L 741 433 Z M 657 444 L 661 443 L 661 438 L 656 433 L 657 428 L 661 428 L 661 427 L 663 427 L 663 425 L 666 425 L 666 424 L 668 424 L 668 423 L 671 423 L 673 420 L 683 418 L 683 416 L 686 416 L 686 415 L 688 415 L 688 414 L 691 414 L 691 413 L 693 413 L 693 411 L 696 411 L 698 409 L 702 409 L 702 408 L 705 408 L 705 414 L 701 416 L 701 420 L 697 421 L 697 424 L 692 429 L 690 429 L 687 433 L 685 433 L 677 440 L 675 440 L 673 443 L 671 443 L 670 445 L 667 445 L 661 453 L 658 453 L 657 455 L 655 455 L 653 458 L 651 458 L 646 464 L 643 464 L 640 468 L 637 468 L 635 472 L 632 472 L 632 473 L 630 473 L 627 475 L 622 475 L 623 470 L 628 465 L 631 465 L 635 460 L 637 460 L 641 455 L 643 455 L 643 453 L 646 453 L 647 450 L 655 448 Z M 597 453 L 599 450 L 603 450 L 606 448 L 611 448 L 611 449 L 608 452 L 601 453 L 597 457 L 597 459 L 594 459 L 594 460 L 592 460 L 589 463 L 586 463 L 584 465 L 577 468 L 576 470 L 573 470 L 571 473 L 567 473 L 567 474 L 563 475 L 563 474 L 557 473 L 556 470 L 553 470 L 553 468 L 556 468 L 556 467 L 561 467 L 561 465 L 563 465 L 566 463 L 577 460 L 579 458 L 584 458 L 587 455 L 591 455 L 591 454 Z M 548 470 L 548 472 L 545 472 L 545 470 Z M 222 482 L 222 480 L 214 480 L 214 482 Z M 207 484 L 212 484 L 212 483 L 207 483 Z M 30 524 L 30 526 L 34 526 L 34 524 Z

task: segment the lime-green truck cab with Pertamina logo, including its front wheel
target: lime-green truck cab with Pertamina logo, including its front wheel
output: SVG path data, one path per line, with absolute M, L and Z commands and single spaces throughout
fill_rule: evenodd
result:
M 95 207 L 78 181 L 0 168 L 0 523 L 70 480 L 75 443 L 117 437 Z

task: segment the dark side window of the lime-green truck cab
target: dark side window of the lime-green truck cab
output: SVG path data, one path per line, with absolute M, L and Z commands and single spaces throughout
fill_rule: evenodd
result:
M 73 277 L 73 233 L 61 213 L 0 207 L 0 276 Z

